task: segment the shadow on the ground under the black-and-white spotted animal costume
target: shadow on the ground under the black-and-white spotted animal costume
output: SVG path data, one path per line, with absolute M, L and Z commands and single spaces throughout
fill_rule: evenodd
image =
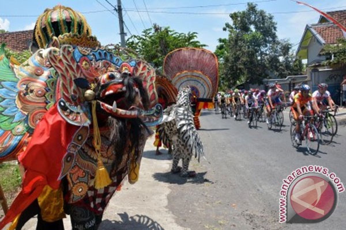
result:
M 203 183 L 214 183 L 208 179 L 205 179 L 204 176 L 207 174 L 207 172 L 198 172 L 196 177 L 194 178 L 185 178 L 180 177 L 179 174 L 173 174 L 171 172 L 157 172 L 153 175 L 153 178 L 160 182 L 166 182 L 170 184 L 185 184 L 185 183 L 191 183 L 191 184 L 203 184 Z

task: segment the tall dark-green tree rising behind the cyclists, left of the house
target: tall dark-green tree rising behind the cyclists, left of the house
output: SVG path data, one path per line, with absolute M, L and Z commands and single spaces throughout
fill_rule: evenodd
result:
M 215 51 L 223 56 L 220 75 L 228 87 L 244 82 L 262 83 L 270 76 L 286 77 L 301 72 L 299 60 L 295 61 L 291 52 L 292 45 L 277 38 L 276 22 L 271 14 L 248 3 L 246 10 L 231 13 L 230 18 L 232 24 L 226 23 L 223 28 L 228 31 L 228 38 L 219 39 Z

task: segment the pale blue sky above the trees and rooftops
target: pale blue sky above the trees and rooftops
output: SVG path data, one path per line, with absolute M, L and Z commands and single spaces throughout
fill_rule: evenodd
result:
M 113 6 L 117 4 L 117 0 L 108 1 Z M 302 1 L 323 11 L 346 9 L 346 0 Z M 128 35 L 126 38 L 130 34 L 138 35 L 145 28 L 151 27 L 152 23 L 157 23 L 162 27 L 170 26 L 177 32 L 197 32 L 198 40 L 207 45 L 206 49 L 215 51 L 218 39 L 227 37 L 227 32 L 222 31 L 222 27 L 226 22 L 231 23 L 229 13 L 245 10 L 246 2 L 246 0 L 122 0 L 124 22 L 129 30 L 125 29 Z M 306 24 L 317 23 L 320 16 L 318 12 L 292 0 L 253 0 L 252 2 L 258 5 L 258 9 L 273 14 L 277 22 L 278 37 L 289 39 L 295 44 L 295 49 L 298 48 Z M 106 10 L 112 8 L 106 0 L 2 0 L 0 29 L 7 31 L 33 29 L 37 16 L 46 8 L 53 8 L 57 4 L 82 12 L 92 29 L 92 34 L 102 45 L 120 42 L 117 13 Z M 136 7 L 140 12 L 136 11 Z

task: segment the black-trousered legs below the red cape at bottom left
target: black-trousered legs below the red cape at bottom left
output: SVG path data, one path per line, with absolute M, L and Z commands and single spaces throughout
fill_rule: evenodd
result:
M 64 230 L 63 220 L 54 222 L 47 222 L 42 219 L 41 210 L 38 205 L 37 199 L 26 208 L 19 217 L 16 230 L 21 230 L 24 224 L 37 214 L 37 227 L 36 230 Z

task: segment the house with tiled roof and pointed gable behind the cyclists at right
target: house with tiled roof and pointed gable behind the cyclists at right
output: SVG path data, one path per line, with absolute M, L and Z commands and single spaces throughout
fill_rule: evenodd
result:
M 346 10 L 326 12 L 343 26 L 346 26 Z M 333 58 L 323 55 L 321 51 L 326 44 L 337 44 L 338 39 L 344 38 L 343 31 L 324 16 L 320 16 L 316 24 L 307 24 L 297 49 L 297 56 L 307 60 L 307 75 L 312 90 L 325 82 L 333 100 L 339 104 L 342 98 L 341 83 L 345 70 L 333 69 L 324 64 L 325 60 Z

